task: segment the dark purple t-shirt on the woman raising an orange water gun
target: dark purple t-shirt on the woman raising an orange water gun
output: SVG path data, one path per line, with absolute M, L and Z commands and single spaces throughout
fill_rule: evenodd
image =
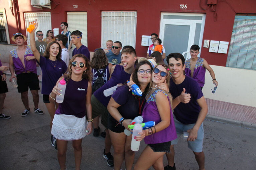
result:
M 63 60 L 51 61 L 43 56 L 40 56 L 40 63 L 38 64 L 42 70 L 41 93 L 49 95 L 58 79 L 67 71 L 68 67 Z

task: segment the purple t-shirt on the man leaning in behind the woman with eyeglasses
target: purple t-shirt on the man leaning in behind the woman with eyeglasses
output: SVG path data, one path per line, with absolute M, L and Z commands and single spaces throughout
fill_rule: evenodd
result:
M 124 67 L 120 65 L 115 66 L 115 70 L 111 75 L 111 79 L 103 86 L 101 86 L 99 89 L 97 89 L 93 94 L 94 96 L 105 106 L 108 106 L 108 102 L 111 98 L 111 95 L 106 97 L 103 94 L 103 91 L 116 86 L 119 83 L 125 83 L 127 80 L 130 80 L 131 74 L 126 73 L 124 71 Z

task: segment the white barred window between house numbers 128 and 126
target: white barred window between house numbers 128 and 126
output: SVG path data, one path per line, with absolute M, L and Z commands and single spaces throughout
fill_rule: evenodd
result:
M 107 40 L 120 41 L 122 46 L 135 48 L 137 12 L 102 12 L 101 46 L 106 46 Z

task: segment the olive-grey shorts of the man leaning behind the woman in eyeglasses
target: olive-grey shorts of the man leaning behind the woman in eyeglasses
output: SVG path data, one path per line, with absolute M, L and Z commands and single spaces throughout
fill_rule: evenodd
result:
M 91 97 L 92 118 L 101 115 L 101 124 L 108 128 L 108 109 L 94 95 Z

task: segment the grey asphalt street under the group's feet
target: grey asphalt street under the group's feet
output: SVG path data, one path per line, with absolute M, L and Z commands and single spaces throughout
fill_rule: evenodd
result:
M 7 79 L 10 76 L 7 75 Z M 32 95 L 29 92 L 31 112 L 21 117 L 25 109 L 16 87 L 7 82 L 9 92 L 6 93 L 3 113 L 11 119 L 0 119 L 0 170 L 52 170 L 59 169 L 57 150 L 50 144 L 50 116 L 40 94 L 39 108 L 45 114 L 33 112 Z M 40 83 L 41 85 L 41 83 Z M 39 91 L 40 93 L 41 91 Z M 100 125 L 102 131 L 103 126 Z M 205 165 L 207 170 L 255 170 L 256 168 L 256 129 L 241 127 L 216 120 L 204 121 Z M 104 138 L 92 134 L 83 139 L 82 170 L 112 170 L 102 157 Z M 135 163 L 145 147 L 141 142 L 136 152 Z M 111 150 L 113 154 L 113 149 Z M 150 155 L 149 155 L 150 156 Z M 67 151 L 67 169 L 75 169 L 72 143 Z M 164 165 L 167 164 L 164 158 Z M 182 138 L 175 146 L 175 164 L 179 170 L 198 170 L 193 152 L 187 148 Z M 125 169 L 125 165 L 122 165 Z M 153 169 L 152 167 L 150 170 Z

